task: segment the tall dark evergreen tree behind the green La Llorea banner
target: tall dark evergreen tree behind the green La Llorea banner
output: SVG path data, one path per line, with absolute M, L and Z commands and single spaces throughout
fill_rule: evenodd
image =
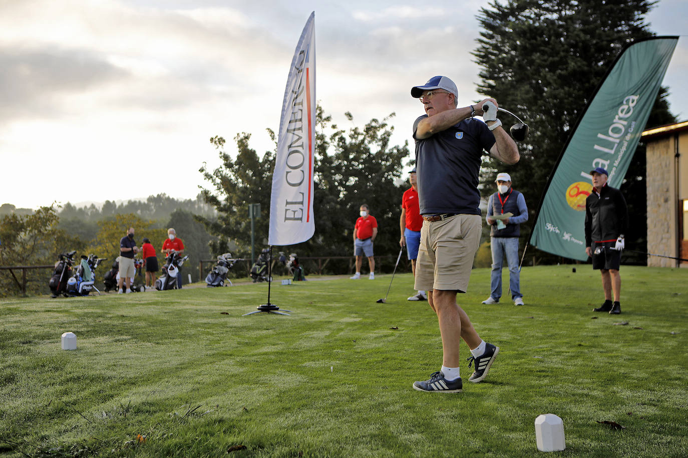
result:
M 645 15 L 654 3 L 508 0 L 481 8 L 477 19 L 483 30 L 473 51 L 482 67 L 477 89 L 530 125 L 530 135 L 519 145 L 522 157 L 517 165 L 486 159 L 482 180 L 490 185 L 483 188 L 484 196 L 494 192 L 491 183 L 497 172 L 508 172 L 514 186 L 524 192 L 530 222 L 534 220 L 552 167 L 604 74 L 627 43 L 652 36 Z M 673 120 L 662 91 L 647 126 Z M 621 186 L 627 201 L 637 205 L 637 218 L 645 215 L 642 153 L 636 152 Z M 527 240 L 530 228 L 522 226 L 522 238 Z M 634 236 L 642 243 L 640 233 Z

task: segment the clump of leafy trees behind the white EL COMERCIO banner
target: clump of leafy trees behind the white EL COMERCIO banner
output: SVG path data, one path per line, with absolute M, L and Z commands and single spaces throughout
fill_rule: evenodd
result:
M 347 119 L 353 120 L 350 113 Z M 352 253 L 352 231 L 358 218 L 358 207 L 367 203 L 378 220 L 380 236 L 376 239 L 378 255 L 398 252 L 398 227 L 401 195 L 405 186 L 395 182 L 401 174 L 402 159 L 409 155 L 407 144 L 390 146 L 394 127 L 390 115 L 372 119 L 363 128 L 348 130 L 332 125 L 331 117 L 316 112 L 316 157 L 314 169 L 315 233 L 308 242 L 286 247 L 283 251 L 301 256 L 349 255 Z M 330 130 L 330 135 L 325 134 Z M 275 135 L 271 130 L 273 141 Z M 257 248 L 267 244 L 270 192 L 275 152 L 259 159 L 248 146 L 250 134 L 235 137 L 237 157 L 224 150 L 224 138 L 213 137 L 211 144 L 219 152 L 222 165 L 213 170 L 204 166 L 200 172 L 211 183 L 203 190 L 206 202 L 217 209 L 217 219 L 200 218 L 208 231 L 218 236 L 211 244 L 213 254 L 229 251 L 234 244 L 237 253 L 250 252 L 250 218 L 248 204 L 261 204 L 261 218 L 255 220 Z M 262 245 L 261 245 L 262 244 Z M 280 247 L 277 247 L 280 250 Z

